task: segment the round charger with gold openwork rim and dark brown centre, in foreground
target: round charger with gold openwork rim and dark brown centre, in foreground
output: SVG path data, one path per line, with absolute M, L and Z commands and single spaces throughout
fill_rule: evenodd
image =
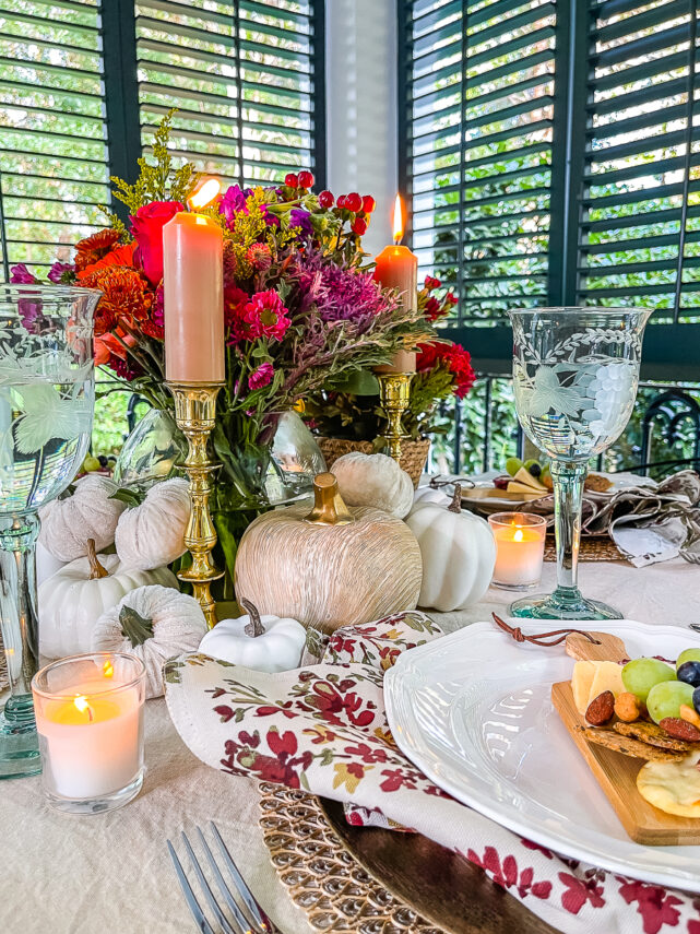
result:
M 419 833 L 353 827 L 343 805 L 260 784 L 281 882 L 332 934 L 556 934 L 486 874 Z

